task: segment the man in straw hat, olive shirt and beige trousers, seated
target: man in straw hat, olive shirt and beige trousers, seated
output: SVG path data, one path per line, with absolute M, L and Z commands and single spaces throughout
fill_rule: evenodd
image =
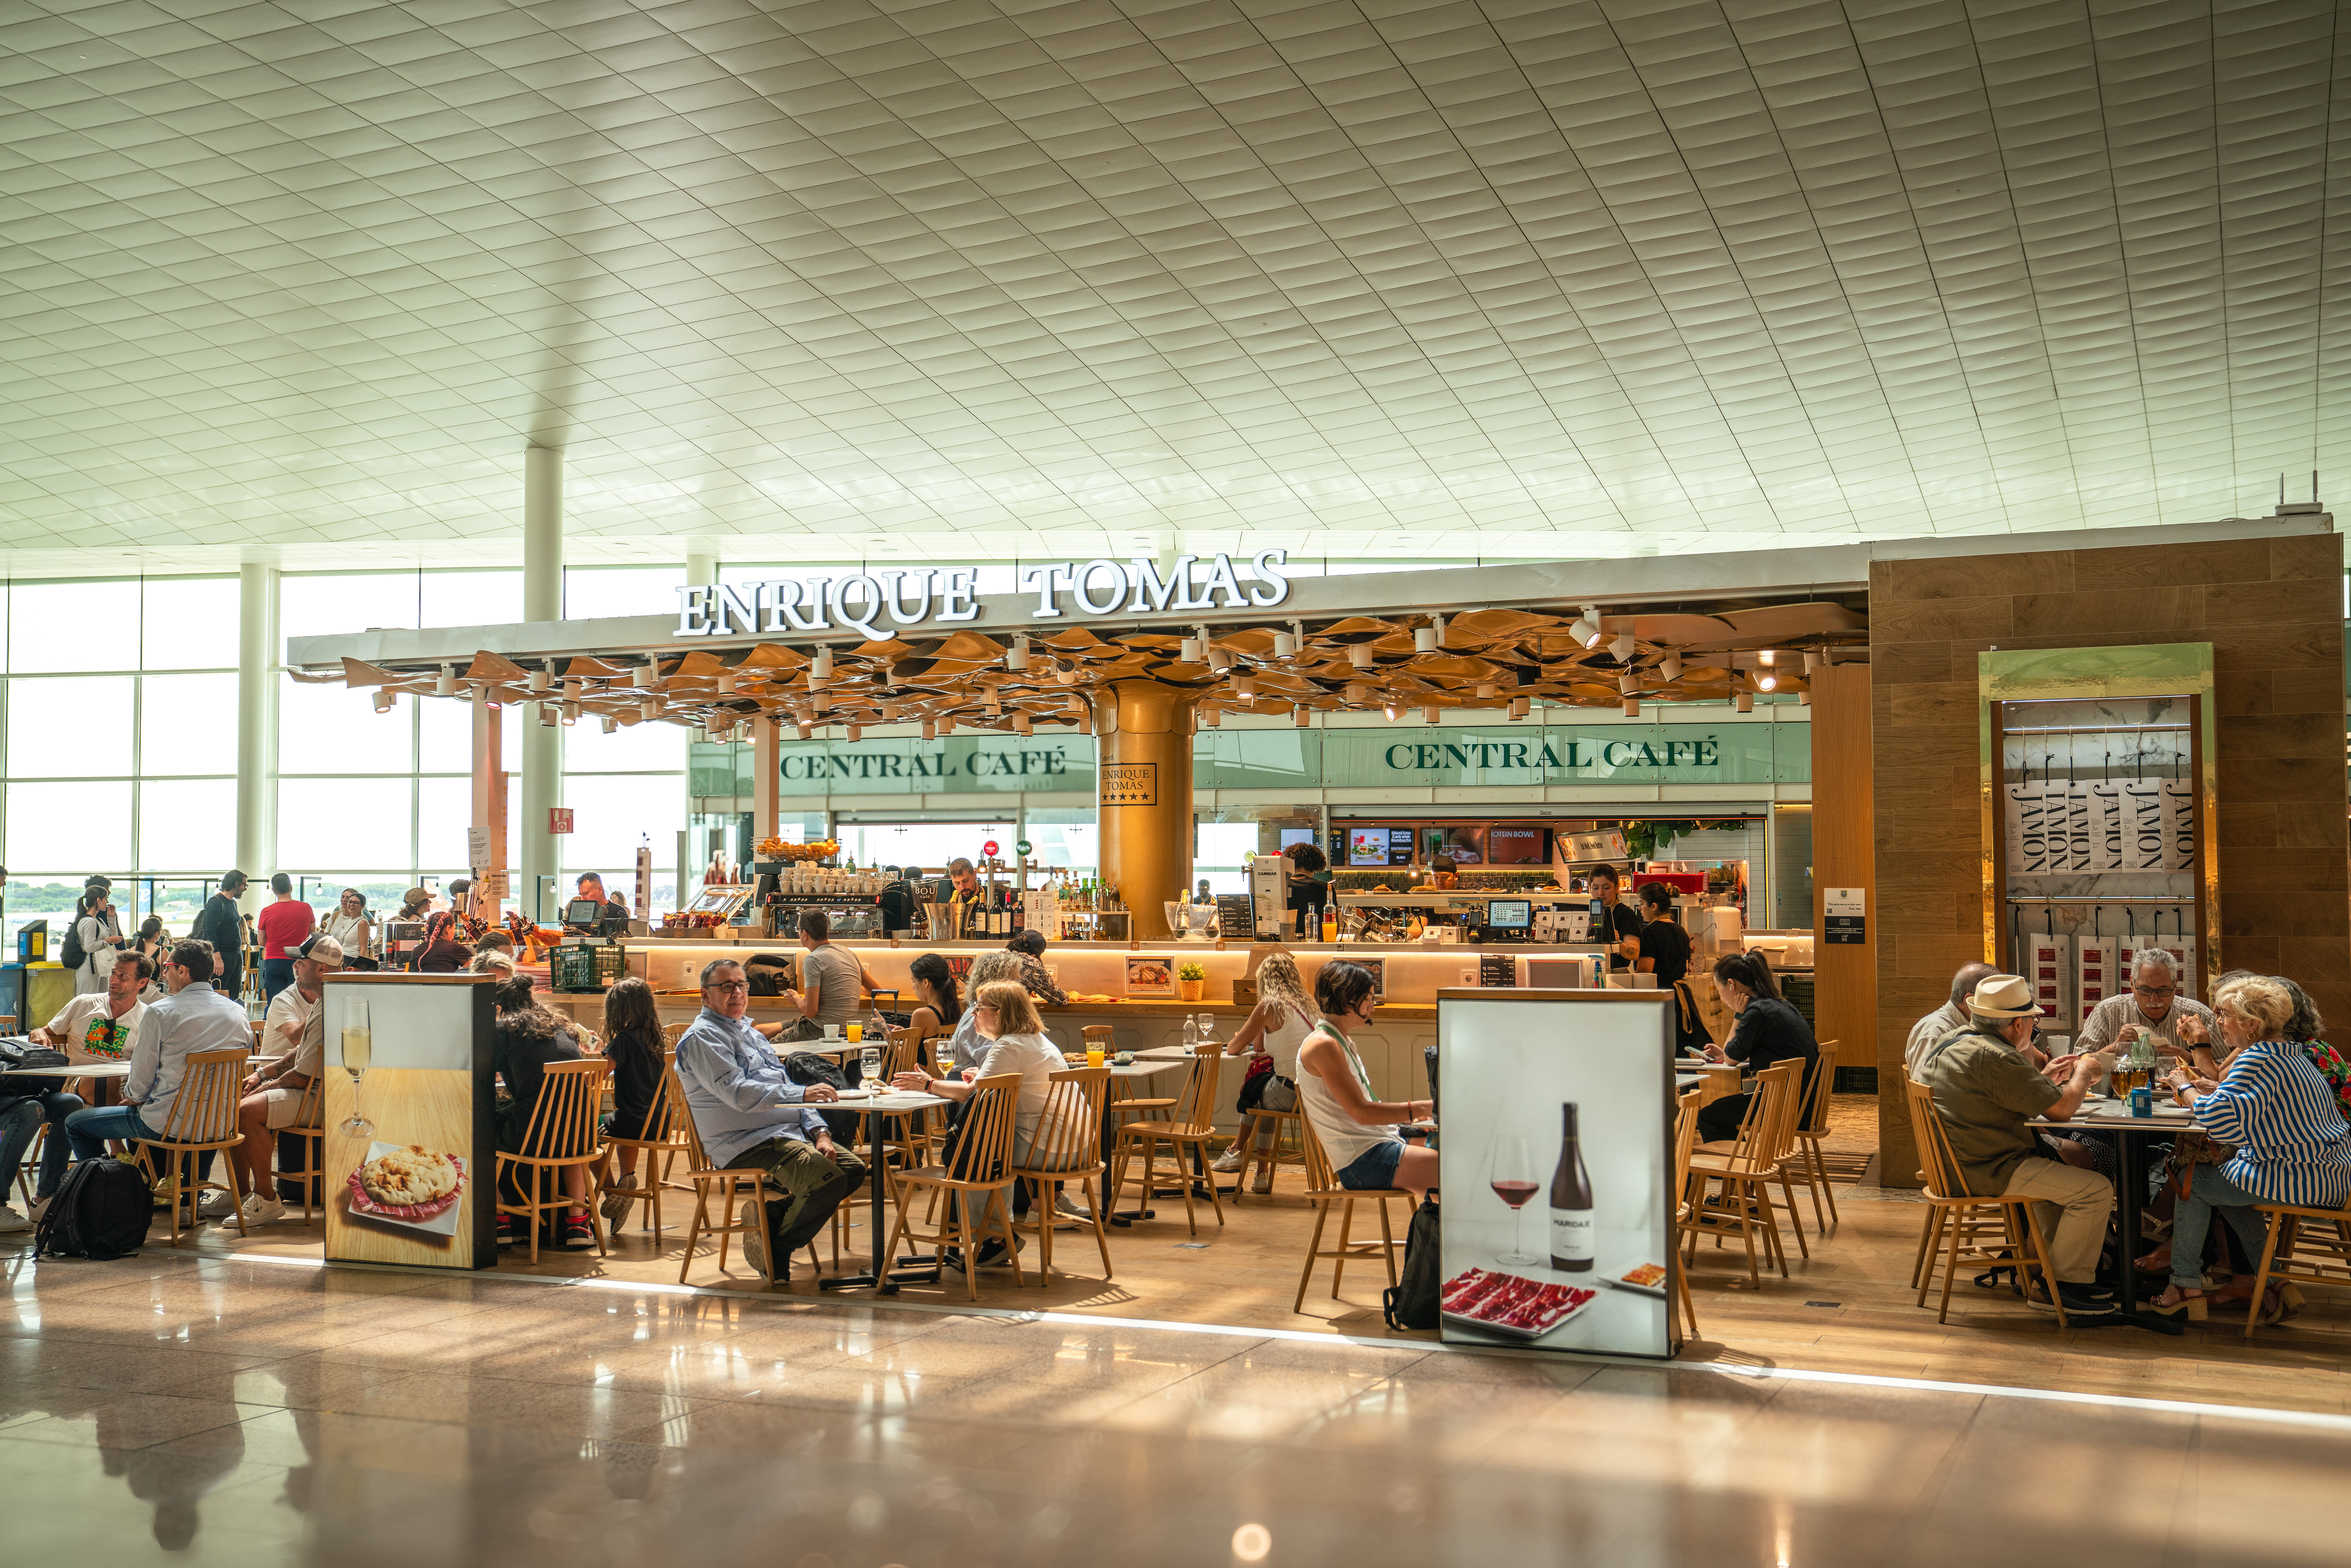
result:
M 1968 1027 L 1935 1041 L 1916 1077 L 1935 1093 L 1965 1192 L 2036 1199 L 2064 1309 L 2114 1312 L 2114 1291 L 2097 1284 L 2114 1187 L 2095 1171 L 2045 1159 L 2029 1126 L 2034 1117 L 2067 1121 L 2114 1060 L 2085 1053 L 2062 1067 L 2062 1086 L 2050 1081 L 2024 1056 L 2041 1016 L 2031 980 L 1984 976 L 1968 994 Z

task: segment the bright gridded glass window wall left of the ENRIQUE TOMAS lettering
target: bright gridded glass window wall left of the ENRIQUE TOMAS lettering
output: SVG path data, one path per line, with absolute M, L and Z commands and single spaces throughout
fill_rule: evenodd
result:
M 576 567 L 567 616 L 644 614 L 684 569 Z M 513 621 L 520 571 L 284 574 L 287 637 L 367 628 Z M 19 581 L 0 592 L 0 860 L 7 950 L 28 919 L 61 933 L 92 872 L 115 879 L 125 931 L 155 912 L 186 931 L 237 858 L 237 578 Z M 473 818 L 470 715 L 454 701 L 402 698 L 379 715 L 367 693 L 275 689 L 275 853 L 245 872 L 289 872 L 322 914 L 357 886 L 386 914 L 416 882 L 461 875 Z M 522 806 L 522 710 L 508 708 L 508 813 Z M 675 900 L 675 835 L 686 820 L 686 733 L 672 724 L 614 736 L 564 729 L 564 804 L 576 832 L 567 872 L 635 879 L 654 846 L 654 905 Z M 508 865 L 515 844 L 508 842 Z M 52 936 L 52 952 L 59 936 Z

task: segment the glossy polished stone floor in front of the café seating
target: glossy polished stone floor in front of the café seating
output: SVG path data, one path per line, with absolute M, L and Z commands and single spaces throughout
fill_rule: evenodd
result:
M 2351 1420 L 0 1253 L 7 1561 L 2339 1563 Z

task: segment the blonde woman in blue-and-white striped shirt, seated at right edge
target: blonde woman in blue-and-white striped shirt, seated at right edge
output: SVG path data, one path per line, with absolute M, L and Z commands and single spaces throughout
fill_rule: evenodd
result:
M 2351 1126 L 2335 1105 L 2335 1091 L 2311 1058 L 2288 1039 L 2295 999 L 2276 980 L 2252 976 L 2229 980 L 2212 997 L 2229 1070 L 2219 1084 L 2184 1079 L 2196 1126 L 2233 1145 L 2219 1166 L 2193 1166 L 2186 1199 L 2172 1215 L 2172 1288 L 2156 1298 L 2156 1312 L 2205 1314 L 2203 1241 L 2217 1208 L 2248 1258 L 2259 1258 L 2269 1225 L 2255 1204 L 2342 1208 L 2351 1204 Z M 2271 1286 L 2252 1302 L 2252 1281 L 2241 1279 L 2222 1300 L 2243 1300 L 2264 1324 L 2285 1314 L 2288 1293 Z

